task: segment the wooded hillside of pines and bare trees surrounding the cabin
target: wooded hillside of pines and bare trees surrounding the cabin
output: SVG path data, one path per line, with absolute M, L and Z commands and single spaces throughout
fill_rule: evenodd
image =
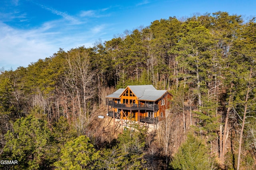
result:
M 172 93 L 155 131 L 113 132 L 105 96 L 127 85 Z M 1 69 L 0 160 L 18 161 L 3 170 L 256 169 L 256 18 L 170 17 Z

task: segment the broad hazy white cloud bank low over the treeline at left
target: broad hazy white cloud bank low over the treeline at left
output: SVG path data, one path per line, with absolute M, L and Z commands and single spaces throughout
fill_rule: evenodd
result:
M 92 47 L 96 39 L 105 34 L 105 28 L 103 24 L 81 30 L 57 20 L 46 22 L 39 28 L 20 30 L 0 22 L 0 68 L 27 67 L 38 59 L 52 56 L 59 48 L 68 51 L 82 45 Z

